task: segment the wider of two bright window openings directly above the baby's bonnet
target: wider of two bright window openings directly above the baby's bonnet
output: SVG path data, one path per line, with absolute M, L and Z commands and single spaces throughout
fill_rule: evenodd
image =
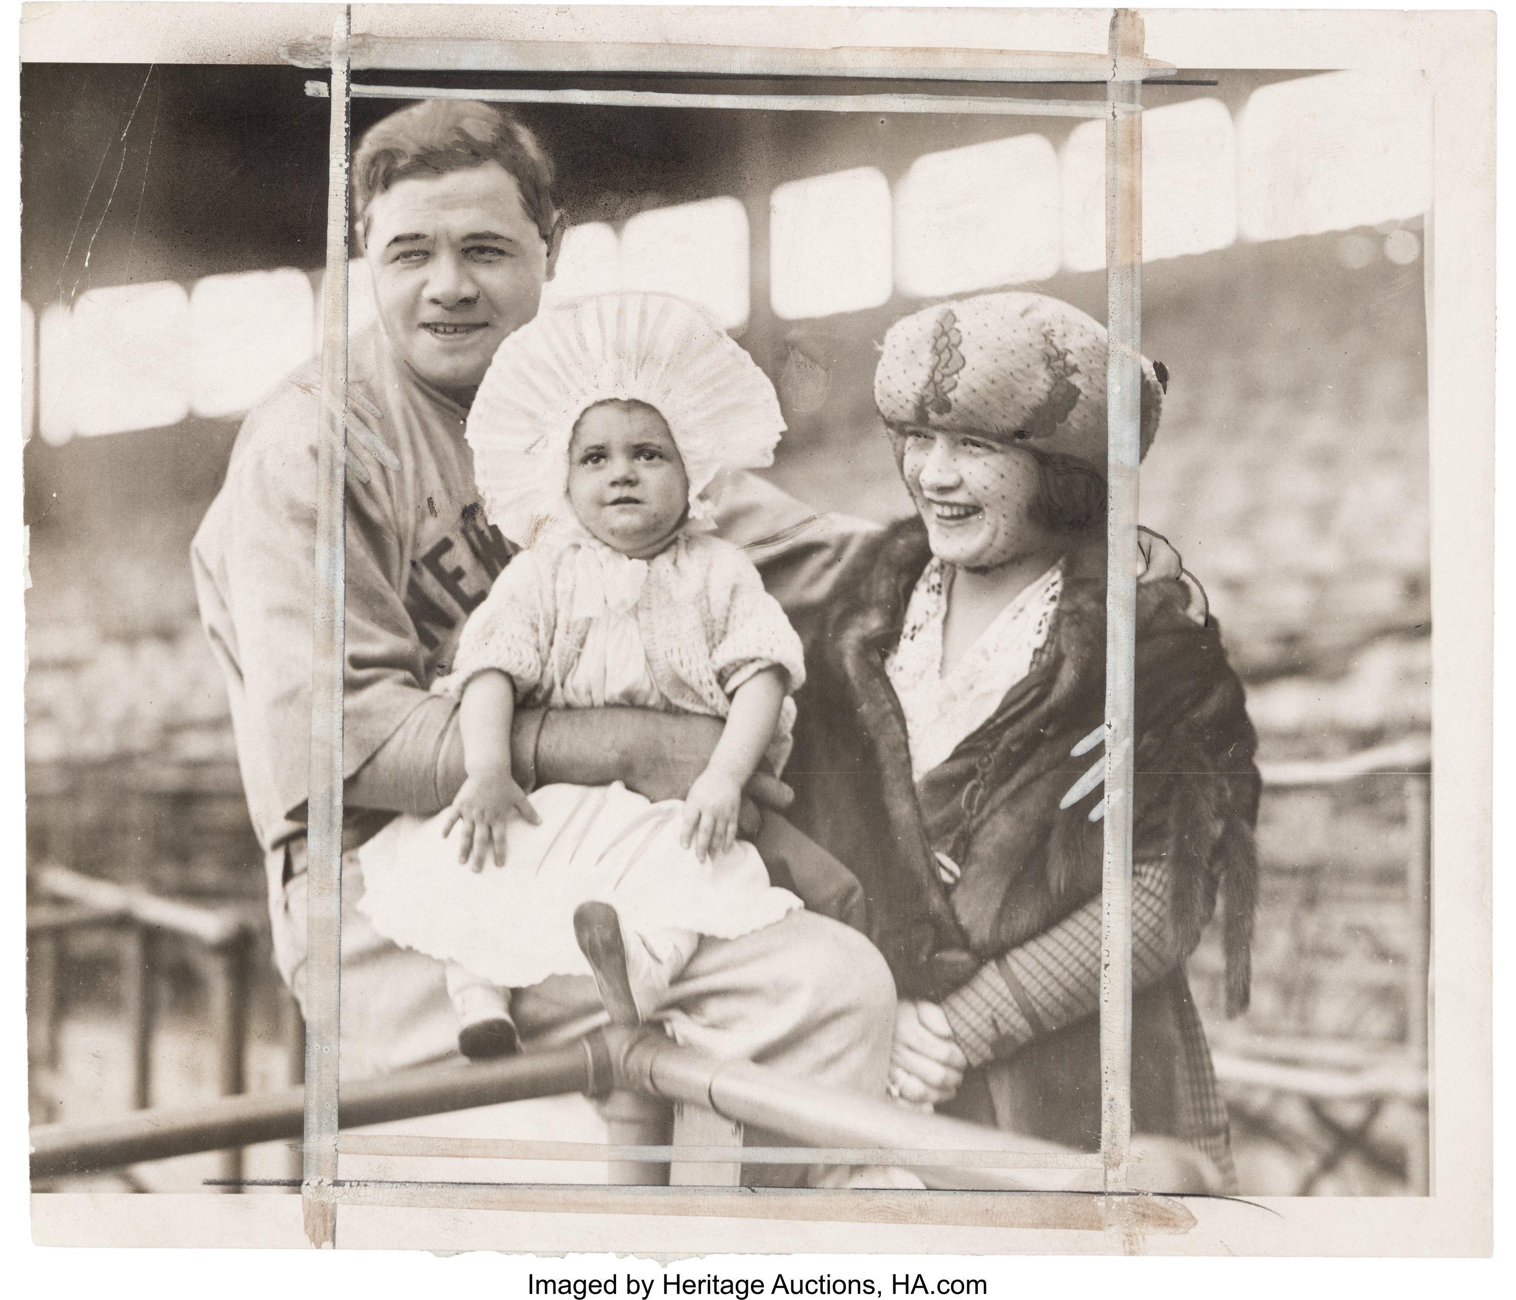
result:
M 747 211 L 737 199 L 655 208 L 622 231 L 622 288 L 678 294 L 725 329 L 747 323 Z

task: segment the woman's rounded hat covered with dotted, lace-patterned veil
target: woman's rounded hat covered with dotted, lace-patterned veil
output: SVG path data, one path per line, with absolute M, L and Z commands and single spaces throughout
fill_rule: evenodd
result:
M 987 293 L 928 306 L 884 337 L 873 400 L 890 425 L 996 434 L 1105 473 L 1105 329 L 1040 293 Z M 1142 363 L 1142 454 L 1163 388 Z

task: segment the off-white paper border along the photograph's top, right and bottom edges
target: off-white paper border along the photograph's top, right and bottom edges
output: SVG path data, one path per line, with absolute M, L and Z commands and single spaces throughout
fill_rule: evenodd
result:
M 168 32 L 159 23 L 141 23 L 135 30 L 123 24 L 121 11 L 153 11 L 171 6 L 29 6 L 42 11 L 23 32 L 23 58 L 55 61 L 111 62 L 267 62 L 249 59 L 250 49 L 282 24 L 283 39 L 293 32 L 309 35 L 320 24 L 318 15 L 334 15 L 338 6 L 235 6 L 236 9 L 279 9 L 273 14 L 247 14 L 247 23 L 217 9 L 215 15 L 196 17 Z M 109 21 L 100 11 L 112 11 Z M 82 12 L 89 11 L 89 12 Z M 296 12 L 291 12 L 296 11 Z M 403 36 L 414 30 L 426 11 L 428 33 L 437 27 L 485 32 L 500 39 L 550 30 L 553 18 L 543 11 L 490 9 L 478 12 L 462 6 L 441 11 L 446 23 L 428 6 L 355 6 L 355 27 Z M 191 11 L 193 12 L 193 11 Z M 635 9 L 585 9 L 575 12 L 573 30 L 581 38 L 602 33 L 606 41 L 625 41 L 635 32 Z M 1098 30 L 1111 11 L 1032 11 L 1032 18 L 1016 29 L 1037 35 L 1066 35 L 1067 41 L 1048 42 L 1048 49 L 1084 49 L 1095 53 L 1088 35 Z M 1433 505 L 1433 743 L 1434 771 L 1434 872 L 1433 872 L 1433 989 L 1436 1006 L 1431 1019 L 1431 1133 L 1433 1195 L 1395 1200 L 1299 1198 L 1128 1198 L 1072 1194 L 1019 1192 L 802 1192 L 764 1194 L 779 1203 L 805 1197 L 808 1209 L 796 1214 L 814 1223 L 835 1226 L 838 1233 L 857 1233 L 860 1244 L 835 1248 L 881 1248 L 863 1241 L 890 1238 L 890 1250 L 901 1248 L 899 1226 L 916 1224 L 913 1248 L 964 1248 L 970 1238 L 990 1233 L 998 1251 L 1070 1250 L 1070 1232 L 1096 1233 L 1107 1242 L 1111 1233 L 1135 1233 L 1143 1248 L 1155 1253 L 1208 1253 L 1242 1250 L 1258 1253 L 1466 1253 L 1478 1251 L 1490 1236 L 1490 1116 L 1492 1116 L 1492 1041 L 1490 1041 L 1490 919 L 1483 906 L 1490 895 L 1490 746 L 1492 746 L 1492 617 L 1493 592 L 1493 18 L 1484 14 L 1355 14 L 1314 11 L 1184 12 L 1140 11 L 1146 21 L 1146 50 L 1151 58 L 1175 67 L 1301 67 L 1326 70 L 1339 67 L 1383 68 L 1424 77 L 1434 102 L 1434 218 L 1427 226 L 1428 285 L 1428 364 L 1431 428 L 1431 505 Z M 1026 11 L 954 11 L 952 23 L 932 21 L 946 15 L 932 11 L 807 11 L 796 15 L 791 33 L 803 30 L 819 49 L 838 44 L 907 44 L 931 53 L 938 42 L 998 49 L 1013 24 Z M 462 17 L 467 15 L 467 17 Z M 30 15 L 27 15 L 30 17 Z M 149 15 L 152 17 L 152 15 Z M 711 44 L 764 44 L 756 39 L 753 11 L 661 11 L 664 35 L 699 47 Z M 1063 26 L 1060 27 L 1060 21 Z M 928 39 L 926 27 L 931 27 Z M 1283 27 L 1290 32 L 1286 36 Z M 194 30 L 190 30 L 194 29 Z M 975 30 L 978 29 L 978 30 Z M 863 35 L 867 41 L 860 39 Z M 549 36 L 549 39 L 552 39 Z M 791 35 L 793 39 L 793 35 Z M 271 49 L 273 44 L 262 46 Z M 1019 39 L 1019 44 L 1023 41 Z M 144 49 L 150 47 L 150 49 Z M 1038 42 L 1043 47 L 1043 42 Z M 106 58 L 109 52 L 109 58 Z M 174 53 L 183 58 L 173 58 Z M 211 58 L 221 53 L 221 59 Z M 152 55 L 146 58 L 144 55 Z M 335 193 L 335 188 L 334 188 Z M 346 179 L 343 182 L 346 199 Z M 346 267 L 346 262 L 344 262 Z M 329 278 L 330 284 L 330 278 Z M 1114 352 L 1116 349 L 1113 349 Z M 1116 404 L 1113 404 L 1114 408 Z M 1114 416 L 1113 416 L 1114 420 Z M 337 460 L 337 482 L 341 461 Z M 1135 517 L 1135 501 L 1132 501 Z M 338 696 L 341 680 L 338 675 Z M 1114 746 L 1113 746 L 1114 748 Z M 314 810 L 312 810 L 314 812 Z M 340 816 L 340 813 L 338 813 Z M 315 869 L 312 851 L 312 872 Z M 1437 944 L 1437 933 L 1455 933 L 1457 944 Z M 312 948 L 314 951 L 314 948 Z M 332 950 L 335 953 L 335 947 Z M 334 1006 L 335 1010 L 335 1006 Z M 335 1021 L 334 1021 L 335 1022 Z M 335 1088 L 335 1051 L 332 1053 Z M 332 1129 L 335 1154 L 335 1126 Z M 308 1174 L 309 1177 L 309 1174 Z M 420 1191 L 420 1189 L 417 1189 Z M 428 1188 L 431 1197 L 435 1185 Z M 659 1235 L 687 1242 L 688 1248 L 722 1248 L 717 1239 L 731 1239 L 709 1226 L 711 1195 L 700 1192 L 703 1218 L 684 1220 L 664 1192 L 655 1207 L 646 1192 L 658 1189 L 591 1189 L 597 1200 L 593 1223 L 584 1188 L 475 1188 L 458 1185 L 437 1191 L 435 1200 L 406 1206 L 403 1227 L 394 1214 L 373 1204 L 367 1195 L 343 1197 L 343 1245 L 365 1239 L 385 1244 L 415 1244 L 421 1236 L 429 1248 L 464 1248 L 458 1233 L 467 1224 L 468 1245 L 496 1245 L 505 1218 L 531 1214 L 534 1233 L 549 1239 L 573 1241 L 565 1248 L 626 1248 L 626 1223 L 637 1224 L 634 1235 L 646 1241 L 649 1220 L 658 1221 Z M 572 1209 L 549 1204 L 575 1197 Z M 690 1194 L 684 1194 L 688 1197 Z M 941 1221 L 923 1221 L 920 1198 L 941 1207 Z M 846 1198 L 846 1200 L 841 1200 Z M 61 1201 L 67 1195 L 33 1197 L 33 1230 L 38 1241 L 83 1242 L 76 1236 L 88 1227 L 88 1239 L 100 1244 L 109 1238 L 114 1211 L 106 1203 L 135 1201 L 132 1214 L 120 1218 L 130 1236 L 129 1223 L 141 1211 L 162 1203 L 164 1197 L 100 1197 L 91 1201 L 85 1224 Z M 174 1197 L 183 1214 L 174 1212 L 180 1229 L 191 1229 L 202 1214 L 226 1214 L 227 1201 L 217 1197 Z M 288 1236 L 294 1198 L 235 1198 L 256 1211 L 241 1209 L 246 1221 L 264 1215 L 280 1220 L 270 1230 L 280 1244 Z M 420 1200 L 420 1198 L 417 1198 Z M 634 1207 L 632 1200 L 638 1204 Z M 732 1215 L 740 1227 L 741 1248 L 787 1248 L 793 1226 L 782 1217 L 764 1223 L 753 1214 L 750 1194 L 743 1195 L 743 1215 Z M 1173 1206 L 1169 1206 L 1173 1201 Z M 835 1209 L 834 1209 L 835 1204 Z M 844 1206 L 866 1211 L 866 1223 L 846 1223 L 854 1215 Z M 1266 1211 L 1260 1212 L 1260 1211 Z M 1308 1212 L 1307 1212 L 1308 1211 Z M 462 1212 L 462 1214 L 459 1214 Z M 835 1217 L 834 1217 L 835 1215 Z M 932 1214 L 937 1218 L 937 1214 Z M 446 1227 L 444 1227 L 446 1224 Z M 206 1229 L 215 1230 L 211 1223 Z M 349 1233 L 353 1233 L 349 1238 Z M 370 1238 L 370 1233 L 379 1233 Z M 438 1233 L 434 1242 L 432 1232 Z M 478 1238 L 473 1235 L 478 1233 Z M 961 1245 L 946 1242 L 946 1233 Z M 1010 1233 L 1010 1238 L 1007 1238 Z M 508 1235 L 520 1241 L 518 1227 Z M 1051 1236 L 1045 1236 L 1051 1235 Z M 922 1241 L 917 1244 L 916 1238 Z M 302 1235 L 303 1239 L 303 1235 Z M 452 1244 L 443 1245 L 443 1239 Z M 849 1238 L 850 1239 L 850 1238 Z M 708 1244 L 700 1244 L 708 1242 Z M 1090 1245 L 1101 1248 L 1095 1238 Z M 517 1247 L 518 1248 L 518 1247 Z M 541 1247 L 547 1248 L 547 1247 Z M 685 1248 L 685 1245 L 676 1247 Z M 732 1248 L 732 1247 L 728 1247 Z M 1108 1248 L 1108 1245 L 1105 1247 Z M 1386 1250 L 1389 1248 L 1389 1250 Z

